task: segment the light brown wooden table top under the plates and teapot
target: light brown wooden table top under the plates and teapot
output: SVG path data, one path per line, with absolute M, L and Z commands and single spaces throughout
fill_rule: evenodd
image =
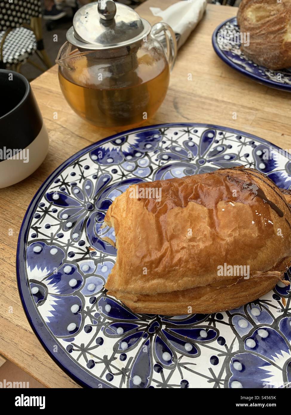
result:
M 159 7 L 164 10 L 174 2 L 160 0 Z M 156 2 L 148 0 L 137 11 L 155 23 L 160 18 L 152 16 L 151 5 Z M 254 83 L 229 68 L 213 51 L 213 30 L 236 12 L 234 7 L 208 5 L 203 21 L 179 50 L 164 103 L 145 125 L 210 123 L 291 148 L 290 93 Z M 188 81 L 188 73 L 192 73 L 192 81 Z M 0 190 L 0 354 L 45 386 L 79 388 L 44 351 L 24 314 L 15 275 L 17 237 L 29 202 L 47 176 L 83 147 L 122 129 L 96 128 L 75 115 L 61 94 L 57 66 L 35 79 L 32 89 L 49 131 L 50 146 L 44 163 L 32 176 Z M 58 113 L 57 120 L 54 112 Z M 233 112 L 237 113 L 236 120 Z M 13 231 L 10 236 L 9 229 Z

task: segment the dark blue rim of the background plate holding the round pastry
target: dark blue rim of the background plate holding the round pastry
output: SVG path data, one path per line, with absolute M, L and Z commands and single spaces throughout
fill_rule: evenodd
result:
M 213 49 L 214 49 L 215 53 L 218 55 L 218 57 L 223 62 L 225 62 L 228 66 L 230 66 L 232 69 L 235 69 L 235 71 L 238 71 L 238 72 L 242 73 L 243 75 L 245 75 L 248 78 L 252 79 L 252 81 L 260 83 L 261 85 L 269 86 L 270 88 L 290 92 L 291 91 L 291 85 L 282 84 L 282 83 L 279 83 L 279 82 L 276 82 L 276 81 L 272 81 L 271 79 L 265 79 L 262 76 L 258 76 L 254 73 L 250 73 L 246 69 L 242 68 L 240 65 L 238 65 L 236 63 L 233 63 L 230 59 L 227 58 L 227 56 L 225 56 L 225 54 L 223 53 L 223 51 L 220 49 L 220 47 L 218 45 L 218 41 L 217 41 L 218 32 L 225 24 L 230 23 L 230 22 L 236 22 L 236 21 L 237 21 L 236 16 L 230 17 L 229 19 L 226 19 L 224 22 L 220 23 L 218 25 L 218 27 L 216 27 L 216 29 L 214 30 L 213 35 L 212 35 L 212 46 L 213 46 Z M 290 74 L 290 76 L 291 76 L 291 74 Z

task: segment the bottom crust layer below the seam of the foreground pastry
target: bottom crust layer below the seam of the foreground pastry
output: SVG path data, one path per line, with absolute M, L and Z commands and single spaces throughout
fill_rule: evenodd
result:
M 232 310 L 257 300 L 274 288 L 279 280 L 281 280 L 281 273 L 270 271 L 269 273 L 258 273 L 257 278 L 249 280 L 236 278 L 235 281 L 226 280 L 205 287 L 173 291 L 172 293 L 134 295 L 120 291 L 108 291 L 108 295 L 118 298 L 134 312 L 164 315 L 208 314 Z

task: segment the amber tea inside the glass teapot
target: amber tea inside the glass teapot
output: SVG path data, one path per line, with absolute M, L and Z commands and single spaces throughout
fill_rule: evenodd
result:
M 115 59 L 113 68 L 106 59 L 98 61 L 81 55 L 71 70 L 60 66 L 61 90 L 73 110 L 99 127 L 135 126 L 152 117 L 169 84 L 166 59 L 139 49 Z

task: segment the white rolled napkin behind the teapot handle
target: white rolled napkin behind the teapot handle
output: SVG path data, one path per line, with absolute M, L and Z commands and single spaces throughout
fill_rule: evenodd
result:
M 169 6 L 166 10 L 161 10 L 159 7 L 149 7 L 149 10 L 154 16 L 161 17 L 162 22 L 169 24 L 174 32 L 180 35 L 179 48 L 202 19 L 206 4 L 206 0 L 183 0 Z

